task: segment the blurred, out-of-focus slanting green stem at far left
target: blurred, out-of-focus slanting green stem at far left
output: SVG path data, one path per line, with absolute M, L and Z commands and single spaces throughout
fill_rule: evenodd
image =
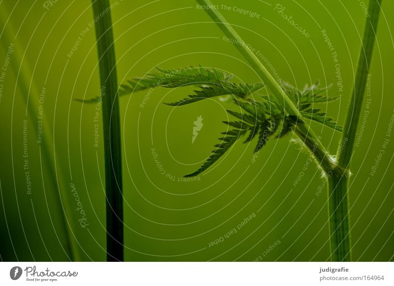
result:
M 34 80 L 31 82 L 31 89 L 29 89 L 29 80 L 28 78 L 32 78 L 30 75 L 30 69 L 28 65 L 25 63 L 24 65 L 21 64 L 21 55 L 19 53 L 19 50 L 21 49 L 21 44 L 19 40 L 16 37 L 12 37 L 11 35 L 15 35 L 12 26 L 10 23 L 7 24 L 7 27 L 5 26 L 5 23 L 3 23 L 3 19 L 8 18 L 8 14 L 6 13 L 5 8 L 2 6 L 0 9 L 0 27 L 4 27 L 3 34 L 0 36 L 1 42 L 3 44 L 3 48 L 6 50 L 7 46 L 12 42 L 15 43 L 15 50 L 14 50 L 14 56 L 13 56 L 13 63 L 10 65 L 12 71 L 14 72 L 17 82 L 16 84 L 18 85 L 18 88 L 20 89 L 21 95 L 23 97 L 23 100 L 25 101 L 25 104 L 27 106 L 27 113 L 28 116 L 30 117 L 30 120 L 32 122 L 37 122 L 38 118 L 38 93 L 37 93 L 37 86 L 34 82 Z M 20 67 L 18 70 L 17 67 Z M 30 96 L 30 98 L 29 98 Z M 29 101 L 28 101 L 29 99 Z M 56 172 L 56 166 L 55 166 L 55 145 L 51 145 L 51 139 L 52 138 L 52 132 L 51 129 L 48 126 L 48 118 L 45 112 L 42 114 L 42 119 L 41 119 L 41 124 L 42 124 L 42 131 L 44 136 L 42 137 L 42 152 L 41 155 L 43 157 L 44 161 L 44 168 L 49 172 L 48 178 L 51 180 L 51 184 L 53 189 L 58 190 L 56 192 L 56 199 L 55 203 L 57 205 L 57 210 L 60 212 L 60 217 L 62 221 L 62 228 L 65 231 L 66 234 L 66 251 L 68 254 L 68 258 L 70 261 L 79 261 L 79 251 L 78 251 L 78 245 L 75 240 L 75 236 L 72 234 L 72 229 L 73 229 L 73 220 L 67 219 L 66 214 L 71 214 L 71 208 L 69 206 L 69 202 L 67 199 L 67 195 L 65 194 L 64 189 L 66 188 L 66 183 L 64 182 L 64 178 L 62 174 L 65 174 L 62 171 L 62 166 L 60 165 L 58 168 L 60 169 L 58 176 Z M 35 134 L 38 134 L 38 125 L 34 124 L 34 129 L 35 129 Z M 53 154 L 53 155 L 51 155 Z M 43 174 L 41 174 L 41 177 L 43 177 Z M 44 179 L 43 179 L 44 183 Z M 45 186 L 43 185 L 43 188 L 45 190 Z M 49 209 L 48 209 L 49 212 Z

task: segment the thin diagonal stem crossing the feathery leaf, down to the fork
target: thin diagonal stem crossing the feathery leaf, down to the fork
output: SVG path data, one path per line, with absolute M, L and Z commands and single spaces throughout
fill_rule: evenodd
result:
M 238 49 L 238 51 L 246 58 L 252 68 L 257 72 L 260 76 L 262 81 L 268 86 L 268 88 L 272 91 L 274 97 L 276 98 L 277 102 L 282 103 L 285 113 L 291 115 L 296 115 L 301 121 L 304 122 L 302 119 L 301 114 L 299 113 L 297 107 L 293 104 L 292 100 L 286 95 L 286 93 L 282 90 L 278 82 L 273 78 L 273 76 L 265 69 L 264 65 L 260 62 L 257 56 L 247 47 L 245 42 L 242 38 L 232 29 L 230 24 L 226 21 L 226 19 L 220 14 L 220 12 L 213 8 L 210 0 L 197 0 L 197 2 L 205 7 L 211 7 L 205 9 L 211 19 L 219 26 L 219 28 L 223 31 L 223 33 L 231 39 L 234 39 L 234 46 Z M 241 43 L 241 44 L 237 44 Z M 318 161 L 319 164 L 325 165 L 325 162 L 328 161 L 329 154 L 323 144 L 318 140 L 316 135 L 313 131 L 304 123 L 300 123 L 297 125 L 297 129 L 300 131 L 301 134 L 308 137 L 310 142 L 314 142 L 317 145 L 317 148 L 320 152 L 314 152 L 313 155 L 315 159 Z M 305 140 L 305 138 L 302 138 Z M 318 154 L 321 154 L 320 157 L 317 157 Z

